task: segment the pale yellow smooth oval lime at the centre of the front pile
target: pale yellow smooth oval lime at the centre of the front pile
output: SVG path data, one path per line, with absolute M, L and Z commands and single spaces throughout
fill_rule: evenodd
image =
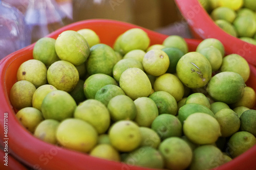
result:
M 145 72 L 139 68 L 128 68 L 120 76 L 121 89 L 133 100 L 150 95 L 152 86 Z

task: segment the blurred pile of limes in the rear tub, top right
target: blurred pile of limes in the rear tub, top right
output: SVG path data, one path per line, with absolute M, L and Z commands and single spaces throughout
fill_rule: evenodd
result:
M 254 0 L 199 1 L 223 31 L 256 45 L 256 4 Z

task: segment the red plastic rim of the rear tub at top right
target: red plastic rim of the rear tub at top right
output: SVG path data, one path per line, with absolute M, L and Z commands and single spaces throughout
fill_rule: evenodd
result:
M 256 45 L 247 43 L 224 32 L 210 18 L 198 0 L 175 0 L 195 38 L 216 38 L 225 46 L 227 54 L 236 53 L 256 65 Z

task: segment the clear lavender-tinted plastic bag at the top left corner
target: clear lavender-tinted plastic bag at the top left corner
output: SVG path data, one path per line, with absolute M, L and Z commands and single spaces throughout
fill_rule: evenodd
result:
M 0 0 L 0 60 L 31 43 L 24 15 Z

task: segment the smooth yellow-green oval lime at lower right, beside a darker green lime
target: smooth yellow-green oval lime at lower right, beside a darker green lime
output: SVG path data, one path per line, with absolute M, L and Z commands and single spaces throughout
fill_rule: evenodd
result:
M 183 123 L 183 132 L 189 140 L 197 144 L 211 144 L 221 136 L 216 118 L 206 113 L 193 113 Z

